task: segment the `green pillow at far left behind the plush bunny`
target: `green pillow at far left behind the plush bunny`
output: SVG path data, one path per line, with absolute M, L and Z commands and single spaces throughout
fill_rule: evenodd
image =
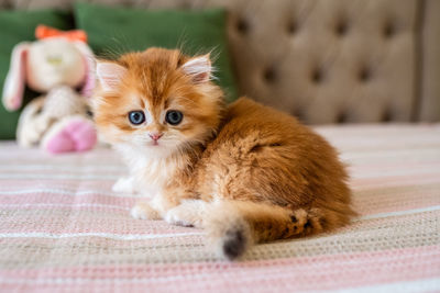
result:
M 46 24 L 62 30 L 73 27 L 73 20 L 67 12 L 56 10 L 35 11 L 0 11 L 0 91 L 3 90 L 4 78 L 9 70 L 9 63 L 13 47 L 23 41 L 35 40 L 35 27 Z M 0 93 L 1 95 L 1 93 Z M 29 101 L 36 93 L 28 91 L 24 101 Z M 15 128 L 20 111 L 8 112 L 0 105 L 0 139 L 15 138 Z

